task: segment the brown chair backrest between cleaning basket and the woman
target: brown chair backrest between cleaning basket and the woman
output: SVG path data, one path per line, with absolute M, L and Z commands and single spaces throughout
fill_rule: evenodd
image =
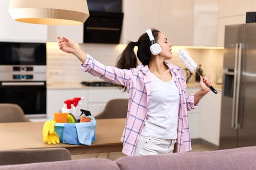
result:
M 112 99 L 107 102 L 104 110 L 95 119 L 126 118 L 128 99 Z

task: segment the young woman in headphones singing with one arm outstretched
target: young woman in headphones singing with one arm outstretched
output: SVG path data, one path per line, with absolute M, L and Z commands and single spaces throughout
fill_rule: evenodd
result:
M 150 47 L 155 41 L 150 34 L 159 45 L 153 51 Z M 172 58 L 172 44 L 164 34 L 155 29 L 147 30 L 137 42 L 126 46 L 117 67 L 99 63 L 66 37 L 58 39 L 62 51 L 74 54 L 81 61 L 82 71 L 122 85 L 128 91 L 128 112 L 121 137 L 124 154 L 172 153 L 175 143 L 177 152 L 191 150 L 187 111 L 198 106 L 212 83 L 209 78 L 201 77 L 200 90 L 192 95 L 186 94 L 182 68 L 165 62 Z M 138 46 L 137 55 L 135 46 Z

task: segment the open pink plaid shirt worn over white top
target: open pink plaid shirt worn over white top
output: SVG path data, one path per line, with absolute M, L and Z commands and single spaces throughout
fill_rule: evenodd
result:
M 194 94 L 186 94 L 186 78 L 183 69 L 169 63 L 165 63 L 179 91 L 179 119 L 177 128 L 177 152 L 188 152 L 191 150 L 191 140 L 188 125 L 188 110 L 195 109 Z M 123 141 L 122 152 L 133 155 L 139 135 L 147 118 L 147 105 L 151 92 L 151 74 L 148 66 L 139 65 L 137 68 L 120 69 L 105 66 L 87 55 L 82 65 L 83 72 L 89 72 L 106 82 L 124 85 L 129 91 L 128 112 L 125 128 L 121 141 Z

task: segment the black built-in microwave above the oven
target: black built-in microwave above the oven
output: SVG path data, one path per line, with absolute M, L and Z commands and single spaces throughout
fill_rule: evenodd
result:
M 0 42 L 0 65 L 46 65 L 46 43 Z

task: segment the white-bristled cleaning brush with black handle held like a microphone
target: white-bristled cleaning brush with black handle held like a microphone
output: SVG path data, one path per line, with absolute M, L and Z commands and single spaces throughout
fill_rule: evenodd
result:
M 188 52 L 180 49 L 178 52 L 178 57 L 179 59 L 186 65 L 186 67 L 191 71 L 196 71 L 197 74 L 199 74 L 201 77 L 203 77 L 198 71 L 197 71 L 197 64 L 195 61 L 189 56 Z M 217 94 L 217 90 L 213 87 L 209 87 L 215 94 Z

